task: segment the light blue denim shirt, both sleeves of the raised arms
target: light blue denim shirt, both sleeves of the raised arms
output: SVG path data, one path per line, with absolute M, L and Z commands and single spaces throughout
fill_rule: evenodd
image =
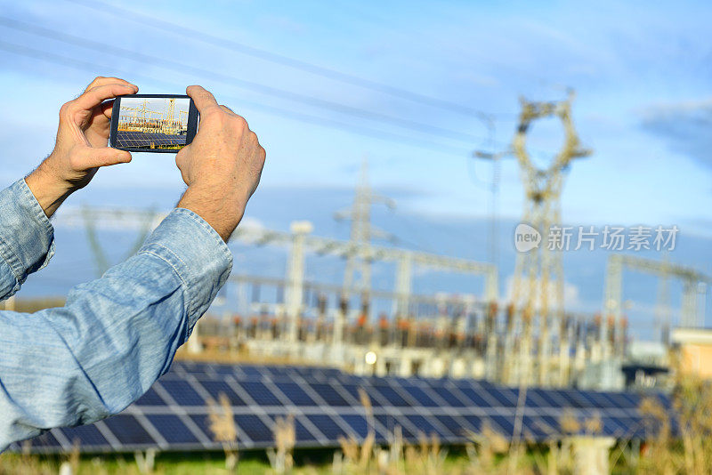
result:
M 0 191 L 0 300 L 47 265 L 53 235 L 24 180 Z M 139 399 L 166 373 L 231 268 L 217 232 L 176 208 L 137 254 L 74 287 L 64 307 L 0 311 L 0 452 Z

